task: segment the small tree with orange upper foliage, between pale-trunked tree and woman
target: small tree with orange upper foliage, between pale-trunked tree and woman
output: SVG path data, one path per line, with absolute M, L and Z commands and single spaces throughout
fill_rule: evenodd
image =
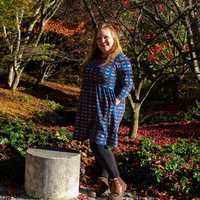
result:
M 81 59 L 75 59 L 74 55 L 71 56 L 71 54 L 75 54 L 75 52 L 69 53 L 67 48 L 70 47 L 70 49 L 72 49 L 74 46 L 75 38 L 73 36 L 81 36 L 84 32 L 84 22 L 74 25 L 62 23 L 61 20 L 57 19 L 49 20 L 45 24 L 42 37 L 44 44 L 38 46 L 42 48 L 41 50 L 44 53 L 41 56 L 35 56 L 34 58 L 35 60 L 40 61 L 40 73 L 36 84 L 43 83 L 44 79 L 59 73 L 59 70 L 55 71 L 55 69 L 62 62 L 81 61 Z

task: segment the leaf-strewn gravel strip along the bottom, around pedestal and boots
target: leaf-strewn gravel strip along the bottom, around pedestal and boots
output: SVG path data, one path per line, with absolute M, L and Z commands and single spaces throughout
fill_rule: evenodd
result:
M 73 198 L 71 200 L 84 200 L 86 199 L 86 191 L 87 188 L 80 188 L 79 189 L 79 196 L 77 198 Z M 89 200 L 108 200 L 108 197 L 98 197 L 98 198 L 87 198 Z M 7 193 L 7 189 L 3 186 L 0 186 L 0 200 L 35 200 L 31 197 L 28 197 L 24 190 L 20 190 L 20 195 L 19 196 L 10 196 Z M 42 200 L 42 199 L 39 199 Z M 137 197 L 137 198 L 130 198 L 128 193 L 124 194 L 124 197 L 122 198 L 122 200 L 155 200 L 155 198 L 150 198 L 150 197 Z

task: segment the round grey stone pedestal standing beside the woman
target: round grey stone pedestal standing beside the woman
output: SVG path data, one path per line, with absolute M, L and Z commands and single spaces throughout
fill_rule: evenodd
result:
M 25 192 L 37 199 L 64 200 L 78 197 L 80 154 L 54 148 L 30 148 L 26 152 Z

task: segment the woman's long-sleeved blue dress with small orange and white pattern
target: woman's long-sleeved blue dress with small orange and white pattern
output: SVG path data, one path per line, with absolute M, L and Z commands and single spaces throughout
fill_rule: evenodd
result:
M 83 71 L 73 139 L 117 147 L 118 128 L 125 111 L 125 98 L 132 88 L 132 66 L 120 52 L 113 61 L 95 61 Z M 120 100 L 115 105 L 116 98 Z

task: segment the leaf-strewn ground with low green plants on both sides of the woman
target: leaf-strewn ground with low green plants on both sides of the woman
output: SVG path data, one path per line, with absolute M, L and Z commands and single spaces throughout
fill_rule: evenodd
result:
M 76 107 L 78 91 L 70 95 L 69 93 L 76 90 L 74 87 L 65 88 L 64 91 L 62 85 L 57 84 L 55 87 L 55 83 L 51 85 L 50 82 L 46 87 L 48 90 L 43 86 L 43 90 L 39 90 L 38 93 L 38 89 L 24 88 L 13 94 L 12 91 L 0 88 L 0 105 L 4 105 L 1 107 L 4 111 L 0 113 L 1 182 L 15 180 L 23 187 L 26 150 L 36 146 L 58 146 L 80 151 L 80 184 L 95 185 L 95 162 L 89 142 L 72 140 L 73 120 L 55 117 L 56 119 L 52 121 L 52 113 L 48 113 L 47 116 L 43 111 L 46 109 L 52 111 L 50 105 L 56 105 L 54 109 L 62 109 L 62 113 L 63 109 L 66 112 L 71 111 L 72 107 Z M 65 93 L 66 91 L 69 93 Z M 65 95 L 69 99 L 68 104 L 62 101 Z M 26 107 L 23 107 L 23 110 L 26 110 L 24 112 L 27 113 L 26 117 L 11 109 L 12 104 L 7 104 L 9 98 L 13 105 L 14 102 L 17 104 L 25 102 Z M 70 100 L 73 98 L 74 101 Z M 9 105 L 10 109 L 5 109 L 6 105 Z M 32 105 L 31 109 L 29 105 Z M 130 197 L 151 196 L 157 199 L 200 197 L 199 105 L 194 101 L 181 101 L 160 104 L 156 108 L 141 120 L 137 138 L 129 138 L 129 127 L 121 126 L 119 147 L 111 148 L 121 176 L 128 184 L 127 191 Z M 41 117 L 38 113 L 43 113 L 44 116 Z

